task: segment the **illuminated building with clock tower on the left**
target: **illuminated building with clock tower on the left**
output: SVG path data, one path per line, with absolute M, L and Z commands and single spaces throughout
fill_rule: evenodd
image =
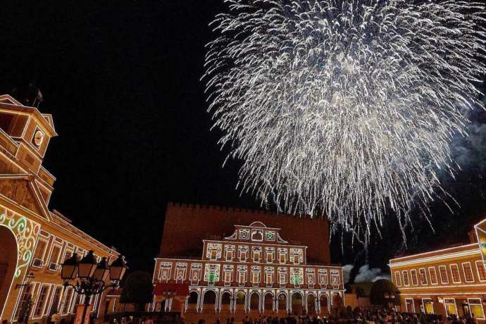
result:
M 118 256 L 61 213 L 49 211 L 55 178 L 42 161 L 56 135 L 51 115 L 0 96 L 1 320 L 18 320 L 30 303 L 30 322 L 42 323 L 55 310 L 61 316 L 72 315 L 83 299 L 63 287 L 59 264 L 73 253 L 85 255 L 89 250 L 97 258 Z M 30 273 L 34 278 L 26 285 Z M 103 298 L 92 298 L 94 313 L 101 313 Z

